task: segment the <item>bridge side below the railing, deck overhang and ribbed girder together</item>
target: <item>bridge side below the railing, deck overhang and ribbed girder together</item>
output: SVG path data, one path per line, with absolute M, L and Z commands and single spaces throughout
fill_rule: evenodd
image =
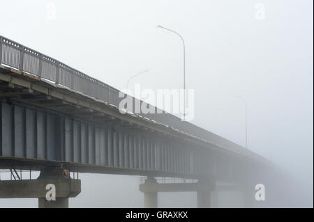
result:
M 223 182 L 246 180 L 258 170 L 246 157 L 160 130 L 110 107 L 99 111 L 89 98 L 10 68 L 0 70 L 0 100 L 1 168 L 62 164 L 86 173 Z

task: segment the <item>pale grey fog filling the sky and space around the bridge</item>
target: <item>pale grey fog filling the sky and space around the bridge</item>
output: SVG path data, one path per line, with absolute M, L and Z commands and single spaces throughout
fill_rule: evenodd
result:
M 256 3 L 264 6 L 258 19 Z M 5 1 L 0 35 L 120 90 L 195 90 L 190 122 L 245 146 L 294 178 L 291 205 L 313 207 L 313 1 Z M 143 207 L 139 177 L 80 174 L 70 207 Z M 290 186 L 291 184 L 287 184 Z M 285 187 L 283 187 L 285 189 Z M 159 193 L 159 207 L 196 207 L 195 193 Z M 231 206 L 237 193 L 223 193 Z M 289 197 L 287 197 L 289 198 Z M 221 200 L 223 201 L 223 200 Z M 0 207 L 37 207 L 0 199 Z

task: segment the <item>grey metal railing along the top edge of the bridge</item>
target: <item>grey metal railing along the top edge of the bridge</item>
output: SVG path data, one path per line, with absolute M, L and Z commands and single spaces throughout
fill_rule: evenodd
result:
M 119 102 L 123 98 L 119 98 L 119 90 L 109 86 L 98 79 L 89 77 L 70 66 L 57 61 L 50 56 L 41 54 L 38 51 L 25 47 L 20 43 L 5 38 L 0 35 L 0 65 L 8 65 L 22 72 L 36 75 L 37 77 L 48 79 L 56 84 L 61 84 L 72 90 L 77 90 L 80 93 L 95 97 L 98 100 L 108 102 L 114 106 L 119 106 Z M 135 103 L 136 98 L 133 98 Z M 140 104 L 143 102 L 140 101 Z M 147 104 L 151 106 L 150 104 Z M 156 111 L 156 107 L 154 107 Z M 163 111 L 160 113 L 140 113 L 141 116 L 155 120 L 179 129 L 188 134 L 197 135 L 197 137 L 210 141 L 213 145 L 222 148 L 229 148 L 233 151 L 244 153 L 246 152 L 241 146 L 227 141 L 225 138 L 212 134 L 207 130 L 197 127 L 190 122 L 182 122 L 180 118 L 170 113 Z

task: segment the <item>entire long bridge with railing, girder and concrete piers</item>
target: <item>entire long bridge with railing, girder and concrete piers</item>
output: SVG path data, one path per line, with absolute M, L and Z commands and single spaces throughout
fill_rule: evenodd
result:
M 197 191 L 199 207 L 214 207 L 213 193 L 222 187 L 242 190 L 252 206 L 254 185 L 274 169 L 267 159 L 150 104 L 155 113 L 122 114 L 118 95 L 116 88 L 0 36 L 0 168 L 13 178 L 0 181 L 0 198 L 68 207 L 68 198 L 80 193 L 75 173 L 103 173 L 144 176 L 145 207 L 158 207 L 163 191 Z M 20 171 L 40 176 L 23 180 Z M 158 182 L 165 177 L 181 182 Z M 45 199 L 49 183 L 56 185 L 55 201 Z

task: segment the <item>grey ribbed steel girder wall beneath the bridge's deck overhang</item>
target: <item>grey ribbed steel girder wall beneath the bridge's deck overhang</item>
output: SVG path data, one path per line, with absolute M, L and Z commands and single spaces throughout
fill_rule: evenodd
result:
M 13 100 L 0 102 L 0 115 L 0 168 L 63 166 L 81 173 L 207 175 L 222 181 L 239 180 L 242 173 L 234 168 L 241 163 L 237 166 L 216 151 L 190 149 L 170 138 L 132 134 Z

